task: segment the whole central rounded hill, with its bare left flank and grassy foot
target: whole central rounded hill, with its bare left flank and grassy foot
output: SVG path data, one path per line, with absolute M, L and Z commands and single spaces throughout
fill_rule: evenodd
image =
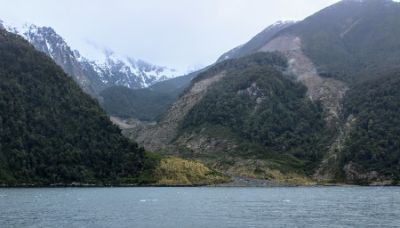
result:
M 216 64 L 192 81 L 157 126 L 131 136 L 154 151 L 225 172 L 241 166 L 262 178 L 276 176 L 273 170 L 308 175 L 329 132 L 319 103 L 286 69 L 286 59 L 274 53 Z

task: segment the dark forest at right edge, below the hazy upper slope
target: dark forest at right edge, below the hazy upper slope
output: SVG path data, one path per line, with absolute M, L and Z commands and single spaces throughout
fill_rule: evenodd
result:
M 400 70 L 354 86 L 345 99 L 356 118 L 343 162 L 400 178 Z

